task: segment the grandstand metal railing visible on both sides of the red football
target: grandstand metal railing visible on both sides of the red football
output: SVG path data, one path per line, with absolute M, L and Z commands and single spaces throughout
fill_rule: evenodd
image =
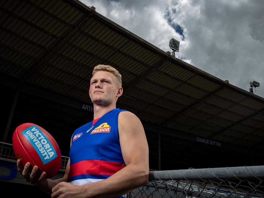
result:
M 5 159 L 17 160 L 12 144 L 0 142 L 0 157 Z M 61 170 L 66 169 L 68 160 L 69 157 L 62 156 L 62 163 L 60 166 Z

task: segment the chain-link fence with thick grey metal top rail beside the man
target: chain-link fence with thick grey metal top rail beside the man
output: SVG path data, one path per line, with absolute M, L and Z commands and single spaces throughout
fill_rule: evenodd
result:
M 127 197 L 264 197 L 264 166 L 151 171 Z

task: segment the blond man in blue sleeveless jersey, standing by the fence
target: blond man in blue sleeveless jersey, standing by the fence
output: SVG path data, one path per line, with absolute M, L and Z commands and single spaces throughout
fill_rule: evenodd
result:
M 44 179 L 43 172 L 35 178 L 37 166 L 29 173 L 30 163 L 23 169 L 17 161 L 26 181 L 51 197 L 117 197 L 147 184 L 148 144 L 143 126 L 133 113 L 116 109 L 123 93 L 121 75 L 109 65 L 97 65 L 92 75 L 89 95 L 94 120 L 74 131 L 64 177 Z M 82 155 L 76 156 L 76 150 Z

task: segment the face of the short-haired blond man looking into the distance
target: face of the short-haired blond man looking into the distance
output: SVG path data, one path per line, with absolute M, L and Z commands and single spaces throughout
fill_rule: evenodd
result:
M 119 87 L 114 74 L 98 71 L 91 78 L 89 95 L 94 104 L 106 106 L 116 102 Z

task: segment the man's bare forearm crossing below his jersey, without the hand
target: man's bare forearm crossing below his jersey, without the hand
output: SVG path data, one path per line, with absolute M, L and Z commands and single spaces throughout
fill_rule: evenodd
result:
M 86 197 L 117 197 L 148 182 L 148 166 L 140 168 L 129 164 L 109 178 L 84 186 Z

